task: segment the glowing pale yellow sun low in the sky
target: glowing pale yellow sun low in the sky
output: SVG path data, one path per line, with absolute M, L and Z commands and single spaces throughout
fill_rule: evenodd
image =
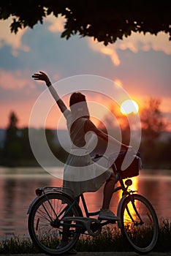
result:
M 129 115 L 130 113 L 136 114 L 138 113 L 139 106 L 133 99 L 126 99 L 122 102 L 120 110 L 123 115 Z

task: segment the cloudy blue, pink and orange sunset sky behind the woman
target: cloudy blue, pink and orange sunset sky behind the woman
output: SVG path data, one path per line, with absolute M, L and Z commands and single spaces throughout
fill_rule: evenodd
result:
M 133 33 L 106 47 L 90 37 L 61 38 L 64 26 L 61 17 L 56 19 L 49 15 L 43 25 L 20 30 L 18 34 L 11 34 L 10 22 L 10 18 L 0 21 L 0 128 L 7 127 L 11 111 L 18 116 L 19 127 L 28 127 L 34 104 L 46 89 L 44 83 L 31 78 L 39 70 L 47 72 L 53 83 L 76 75 L 115 81 L 140 108 L 150 97 L 161 99 L 161 111 L 167 121 L 171 120 L 171 42 L 168 34 Z M 63 83 L 59 86 L 63 87 Z M 60 90 L 62 92 L 62 88 Z M 106 86 L 105 90 L 110 88 Z M 67 103 L 68 97 L 64 99 Z M 89 95 L 89 100 L 92 99 L 105 106 L 110 104 L 102 95 Z M 42 102 L 39 107 L 34 127 L 43 126 L 40 116 L 45 105 Z M 47 127 L 55 128 L 59 115 L 53 106 L 46 118 Z M 61 128 L 64 128 L 62 122 Z

